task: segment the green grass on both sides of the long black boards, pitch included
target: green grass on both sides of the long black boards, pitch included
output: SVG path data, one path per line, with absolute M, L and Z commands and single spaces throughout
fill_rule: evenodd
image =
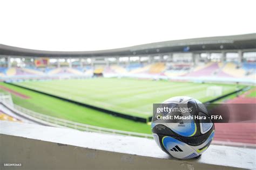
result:
M 27 81 L 18 82 L 17 84 L 19 86 L 69 98 L 74 101 L 95 105 L 96 107 L 143 118 L 152 116 L 153 103 L 161 103 L 173 96 L 191 96 L 201 102 L 205 102 L 216 97 L 206 96 L 207 88 L 210 86 L 223 87 L 223 94 L 230 93 L 237 89 L 237 87 L 232 84 L 114 78 Z M 4 86 L 31 97 L 29 99 L 22 99 L 12 95 L 16 104 L 43 114 L 105 128 L 150 133 L 150 126 L 145 123 L 114 117 L 100 111 L 85 108 L 10 84 L 4 84 Z

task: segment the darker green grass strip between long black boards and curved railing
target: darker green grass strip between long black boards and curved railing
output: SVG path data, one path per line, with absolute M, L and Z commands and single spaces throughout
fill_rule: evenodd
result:
M 117 129 L 123 131 L 132 131 L 139 133 L 151 133 L 150 125 L 140 122 L 130 121 L 128 119 L 115 117 L 104 112 L 85 108 L 77 104 L 65 102 L 55 97 L 50 97 L 40 93 L 19 88 L 6 83 L 0 83 L 19 93 L 26 94 L 30 98 L 24 99 L 16 95 L 12 95 L 15 104 L 24 108 L 39 112 L 41 114 L 67 119 L 69 121 L 100 126 L 103 128 Z

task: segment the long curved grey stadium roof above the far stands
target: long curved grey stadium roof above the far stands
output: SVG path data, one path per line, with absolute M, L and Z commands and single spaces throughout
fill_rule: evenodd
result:
M 256 51 L 256 33 L 238 36 L 193 38 L 154 42 L 125 48 L 101 51 L 41 51 L 0 44 L 0 55 L 39 57 L 91 57 L 91 56 L 132 56 L 153 55 L 172 52 L 232 51 L 244 49 Z

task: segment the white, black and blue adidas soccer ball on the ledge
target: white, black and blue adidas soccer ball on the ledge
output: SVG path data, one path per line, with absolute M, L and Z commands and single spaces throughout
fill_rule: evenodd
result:
M 180 112 L 180 110 L 161 112 L 160 116 L 210 117 L 204 104 L 191 97 L 172 97 L 162 104 L 170 105 L 171 108 L 186 107 L 190 109 L 184 112 Z M 156 117 L 154 114 L 151 123 L 154 140 L 164 152 L 174 158 L 199 157 L 210 146 L 214 137 L 214 124 L 211 119 L 193 118 L 164 122 Z

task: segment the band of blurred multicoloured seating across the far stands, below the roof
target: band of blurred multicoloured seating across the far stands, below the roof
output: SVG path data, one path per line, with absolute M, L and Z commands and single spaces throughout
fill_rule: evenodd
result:
M 243 62 L 239 67 L 235 62 L 208 62 L 199 63 L 196 67 L 189 64 L 172 63 L 171 66 L 166 66 L 163 62 L 145 64 L 132 63 L 131 65 L 111 65 L 102 66 L 95 69 L 96 72 L 106 74 L 158 74 L 168 77 L 200 77 L 200 76 L 217 76 L 217 77 L 238 77 L 246 79 L 255 79 L 256 63 Z M 85 67 L 60 67 L 60 68 L 36 68 L 36 67 L 11 67 L 0 68 L 0 76 L 26 76 L 26 75 L 89 75 L 93 70 L 91 66 Z

